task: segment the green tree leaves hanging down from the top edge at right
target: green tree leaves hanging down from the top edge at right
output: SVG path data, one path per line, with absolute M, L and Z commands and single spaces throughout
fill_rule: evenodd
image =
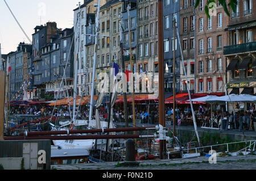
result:
M 217 1 L 223 7 L 225 13 L 228 16 L 230 16 L 228 6 L 230 6 L 232 11 L 236 13 L 235 6 L 237 5 L 237 0 L 217 0 Z M 228 3 L 228 1 L 230 1 L 230 2 Z M 200 0 L 196 0 L 195 8 L 197 6 L 199 6 L 199 3 L 200 3 Z M 209 10 L 213 10 L 214 9 L 214 4 L 216 5 L 216 0 L 208 0 L 207 1 L 207 5 L 205 5 L 205 7 L 204 7 L 205 14 L 207 14 L 208 18 L 210 18 Z

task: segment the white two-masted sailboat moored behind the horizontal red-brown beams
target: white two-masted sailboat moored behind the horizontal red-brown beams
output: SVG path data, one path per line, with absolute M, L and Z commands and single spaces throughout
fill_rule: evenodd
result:
M 99 27 L 99 14 L 100 14 L 100 0 L 98 0 L 98 9 L 97 9 L 97 18 L 96 18 L 96 30 L 98 30 Z M 80 10 L 80 3 L 79 3 L 79 15 L 78 15 L 78 21 L 77 21 L 77 45 L 76 45 L 76 60 L 75 60 L 75 70 L 77 70 L 77 64 L 78 61 L 81 60 L 80 56 L 80 19 L 81 19 L 81 10 Z M 98 39 L 98 31 L 96 31 L 95 35 L 95 44 L 94 46 L 97 47 L 97 41 Z M 95 79 L 96 74 L 96 48 L 94 51 L 94 58 L 93 58 L 93 78 Z M 94 81 L 92 83 L 92 92 L 90 96 L 90 115 L 89 115 L 89 121 L 87 120 L 77 120 L 77 113 L 79 113 L 80 103 L 83 97 L 84 92 L 82 93 L 79 106 L 77 106 L 76 100 L 77 99 L 77 92 L 75 87 L 77 86 L 77 71 L 75 71 L 74 76 L 74 94 L 73 94 L 73 118 L 70 121 L 66 121 L 63 123 L 61 127 L 64 127 L 66 125 L 71 125 L 71 128 L 76 127 L 78 125 L 85 125 L 87 129 L 102 129 L 102 128 L 108 128 L 108 123 L 106 121 L 100 121 L 100 117 L 98 115 L 97 108 L 100 107 L 102 103 L 102 99 L 104 94 L 100 94 L 97 99 L 96 104 L 96 119 L 92 119 L 92 112 L 93 112 L 93 102 L 94 102 Z M 53 128 L 54 129 L 54 128 Z M 61 128 L 61 130 L 65 130 L 68 128 Z M 97 143 L 97 144 L 96 144 Z M 102 147 L 106 145 L 106 140 L 53 140 L 53 144 L 55 146 L 58 146 L 61 149 L 86 149 L 86 150 L 92 150 L 93 146 L 96 146 L 96 148 L 99 146 Z

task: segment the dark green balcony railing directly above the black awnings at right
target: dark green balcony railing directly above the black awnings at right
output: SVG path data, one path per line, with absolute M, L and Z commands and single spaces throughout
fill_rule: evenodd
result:
M 256 41 L 224 47 L 224 55 L 251 52 L 256 50 Z

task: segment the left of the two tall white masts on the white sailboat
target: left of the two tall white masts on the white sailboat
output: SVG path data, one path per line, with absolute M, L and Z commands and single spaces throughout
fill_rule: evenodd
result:
M 77 66 L 78 66 L 78 61 L 80 60 L 79 56 L 79 44 L 80 44 L 80 18 L 81 18 L 81 10 L 80 10 L 80 2 L 79 2 L 79 12 L 77 14 L 77 40 L 76 40 L 76 60 L 75 60 L 75 77 L 74 77 L 74 90 L 73 90 L 73 118 L 72 121 L 75 121 L 75 116 L 76 116 L 76 96 L 78 95 L 77 92 Z

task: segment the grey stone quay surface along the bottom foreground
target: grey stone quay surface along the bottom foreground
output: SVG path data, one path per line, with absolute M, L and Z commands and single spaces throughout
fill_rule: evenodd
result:
M 139 166 L 126 167 L 122 162 L 84 163 L 72 165 L 51 165 L 52 170 L 255 170 L 256 155 L 237 155 L 216 157 L 215 163 L 209 163 L 210 157 L 184 159 L 158 159 L 139 161 Z M 211 161 L 213 159 L 210 158 Z

